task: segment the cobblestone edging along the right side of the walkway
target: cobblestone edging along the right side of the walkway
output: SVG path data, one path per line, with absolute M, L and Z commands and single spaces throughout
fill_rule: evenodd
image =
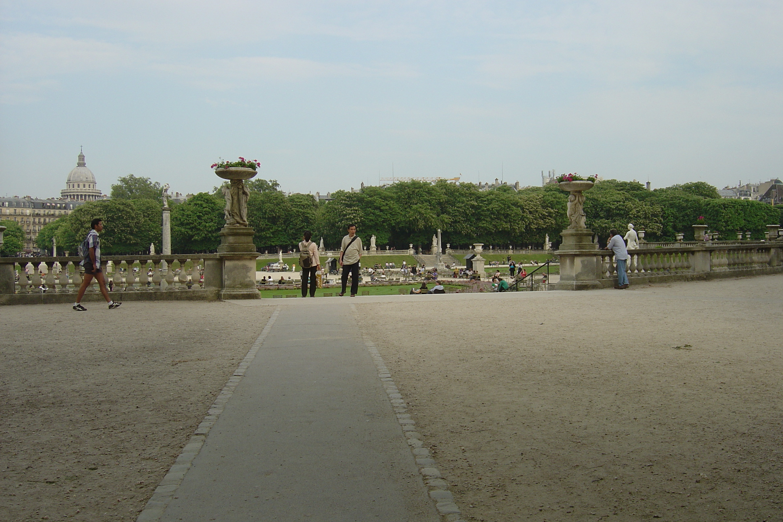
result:
M 351 308 L 353 311 L 356 311 L 354 304 L 351 305 Z M 370 357 L 373 358 L 373 362 L 378 370 L 378 377 L 384 385 L 389 402 L 391 402 L 391 408 L 394 409 L 397 416 L 397 422 L 402 427 L 402 434 L 405 435 L 410 451 L 413 453 L 413 458 L 416 459 L 419 473 L 422 474 L 424 483 L 427 484 L 430 499 L 435 502 L 438 513 L 448 522 L 465 522 L 460 517 L 460 508 L 454 503 L 454 495 L 449 491 L 449 483 L 441 478 L 435 459 L 432 459 L 430 450 L 424 447 L 421 435 L 416 432 L 416 422 L 410 418 L 405 399 L 402 398 L 397 385 L 391 379 L 391 372 L 389 372 L 384 359 L 378 353 L 378 349 L 373 344 L 373 341 L 369 337 L 362 337 L 367 351 L 370 352 Z

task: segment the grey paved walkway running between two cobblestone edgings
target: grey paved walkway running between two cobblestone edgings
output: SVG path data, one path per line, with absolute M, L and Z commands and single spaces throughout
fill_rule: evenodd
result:
M 440 520 L 351 302 L 296 301 L 273 317 L 161 520 Z

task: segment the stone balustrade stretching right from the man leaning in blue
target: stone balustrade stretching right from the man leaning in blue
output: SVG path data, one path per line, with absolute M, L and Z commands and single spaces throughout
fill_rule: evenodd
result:
M 745 268 L 767 268 L 783 264 L 783 244 L 745 241 L 737 244 L 700 242 L 698 247 L 643 248 L 629 250 L 626 265 L 629 278 L 726 272 Z M 600 252 L 601 279 L 617 277 L 617 263 L 611 251 Z

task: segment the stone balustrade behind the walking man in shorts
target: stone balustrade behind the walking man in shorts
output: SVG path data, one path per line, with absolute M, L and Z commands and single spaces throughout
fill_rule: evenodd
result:
M 210 273 L 214 271 L 211 260 L 218 260 L 218 255 L 105 256 L 101 267 L 106 285 L 111 282 L 115 292 L 187 291 L 204 288 L 204 281 L 217 283 Z M 13 293 L 76 293 L 84 280 L 80 261 L 79 257 L 2 257 L 0 263 L 13 263 L 15 279 L 2 287 L 13 287 Z M 30 274 L 28 267 L 32 268 Z M 3 272 L 6 277 L 7 273 Z M 96 279 L 86 291 L 99 292 Z

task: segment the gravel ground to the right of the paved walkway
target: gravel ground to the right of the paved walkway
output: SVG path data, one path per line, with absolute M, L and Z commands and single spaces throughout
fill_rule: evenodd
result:
M 781 295 L 770 275 L 356 308 L 466 520 L 771 521 Z

